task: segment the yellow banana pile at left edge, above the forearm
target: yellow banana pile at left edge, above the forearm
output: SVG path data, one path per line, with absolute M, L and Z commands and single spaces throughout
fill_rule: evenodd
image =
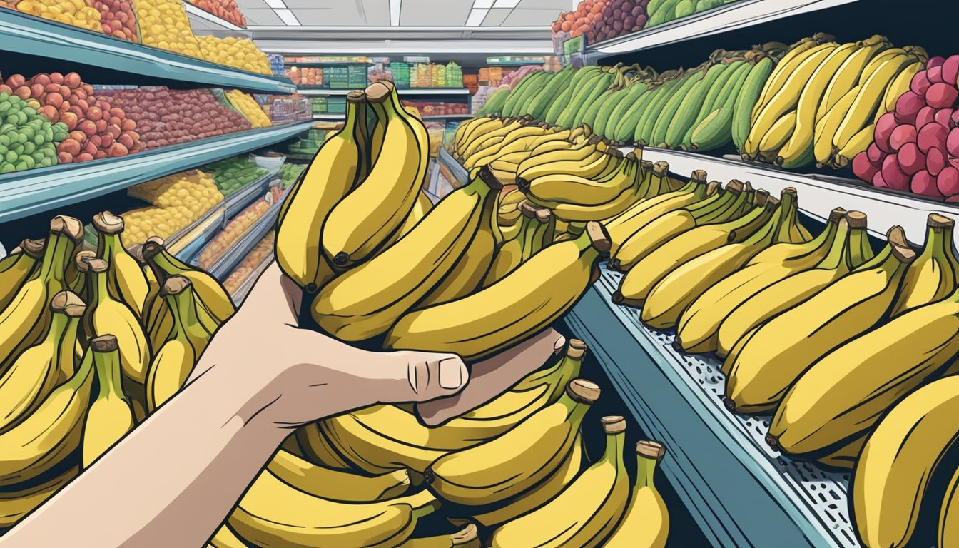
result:
M 175 393 L 233 313 L 222 286 L 161 245 L 141 266 L 123 219 L 58 216 L 0 260 L 0 529 L 92 464 Z

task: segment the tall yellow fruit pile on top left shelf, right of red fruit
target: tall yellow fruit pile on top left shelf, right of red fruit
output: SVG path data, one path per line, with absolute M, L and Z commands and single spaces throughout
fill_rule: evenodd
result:
M 144 45 L 202 58 L 197 36 L 177 0 L 133 0 Z

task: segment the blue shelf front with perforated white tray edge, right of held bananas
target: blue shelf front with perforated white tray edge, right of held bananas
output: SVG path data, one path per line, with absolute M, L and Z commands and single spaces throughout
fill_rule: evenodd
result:
M 613 304 L 620 275 L 603 268 L 566 322 L 643 432 L 667 445 L 662 467 L 713 546 L 858 546 L 848 475 L 773 451 L 763 441 L 770 417 L 729 413 L 721 364 L 675 352 L 672 334 L 646 329 L 638 309 Z

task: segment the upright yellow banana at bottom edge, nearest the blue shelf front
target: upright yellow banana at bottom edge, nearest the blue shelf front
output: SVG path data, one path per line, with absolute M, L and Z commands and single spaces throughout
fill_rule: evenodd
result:
M 669 512 L 666 502 L 653 484 L 656 465 L 666 455 L 659 441 L 636 444 L 636 485 L 629 497 L 629 506 L 622 514 L 605 548 L 665 548 L 669 536 Z

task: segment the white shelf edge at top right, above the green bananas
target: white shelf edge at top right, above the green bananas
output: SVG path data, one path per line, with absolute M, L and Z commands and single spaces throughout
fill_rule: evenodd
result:
M 737 31 L 800 13 L 817 12 L 856 0 L 738 0 L 655 27 L 589 45 L 587 56 L 637 52 L 702 36 Z

